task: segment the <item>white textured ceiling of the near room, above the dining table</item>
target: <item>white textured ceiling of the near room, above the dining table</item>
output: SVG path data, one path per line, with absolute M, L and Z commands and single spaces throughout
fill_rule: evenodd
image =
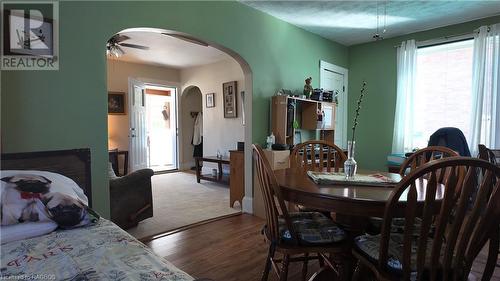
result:
M 377 1 L 242 1 L 271 16 L 344 45 L 370 42 Z M 385 38 L 500 14 L 500 1 L 378 1 Z M 383 28 L 381 28 L 383 29 Z

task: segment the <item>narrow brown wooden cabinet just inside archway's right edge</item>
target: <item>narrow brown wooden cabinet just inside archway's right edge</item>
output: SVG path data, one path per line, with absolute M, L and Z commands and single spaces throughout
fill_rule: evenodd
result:
M 240 202 L 242 206 L 245 195 L 245 154 L 243 151 L 229 151 L 229 206 L 234 202 Z

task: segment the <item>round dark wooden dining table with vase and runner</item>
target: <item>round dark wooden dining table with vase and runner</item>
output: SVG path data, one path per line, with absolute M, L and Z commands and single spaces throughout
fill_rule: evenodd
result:
M 284 200 L 293 203 L 291 205 L 298 204 L 310 209 L 330 212 L 334 220 L 348 231 L 351 243 L 353 243 L 355 236 L 365 232 L 370 217 L 384 217 L 385 207 L 391 193 L 395 190 L 397 183 L 402 180 L 401 175 L 396 173 L 359 170 L 358 174 L 382 175 L 390 178 L 391 182 L 360 184 L 354 178 L 351 181 L 335 184 L 318 184 L 308 176 L 307 171 L 300 168 L 288 168 L 274 172 Z M 423 209 L 426 184 L 427 180 L 424 178 L 415 182 L 417 213 Z M 436 198 L 441 199 L 443 196 L 444 186 L 438 185 Z M 404 217 L 405 198 L 406 196 L 403 194 L 397 203 L 396 211 L 392 213 L 393 217 Z M 439 206 L 435 207 L 437 211 Z M 354 261 L 350 257 L 350 253 L 347 253 L 344 260 L 347 265 L 345 272 L 350 276 L 354 269 Z

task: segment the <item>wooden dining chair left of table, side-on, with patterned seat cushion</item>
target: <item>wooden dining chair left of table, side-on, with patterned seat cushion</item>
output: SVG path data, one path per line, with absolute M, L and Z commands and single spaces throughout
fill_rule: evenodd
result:
M 269 243 L 262 280 L 268 279 L 271 267 L 279 280 L 287 280 L 290 262 L 303 262 L 302 278 L 305 280 L 308 261 L 313 259 L 319 259 L 341 274 L 342 267 L 329 260 L 327 254 L 345 254 L 348 249 L 346 233 L 321 213 L 289 212 L 262 148 L 254 145 L 253 155 L 266 212 L 263 234 Z M 276 252 L 281 253 L 283 258 L 276 259 Z

